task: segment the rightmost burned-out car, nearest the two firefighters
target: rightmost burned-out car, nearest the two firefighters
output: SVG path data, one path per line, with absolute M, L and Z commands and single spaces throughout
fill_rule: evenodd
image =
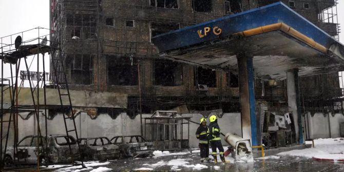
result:
M 142 136 L 116 136 L 111 142 L 118 145 L 123 157 L 153 156 L 154 145 Z

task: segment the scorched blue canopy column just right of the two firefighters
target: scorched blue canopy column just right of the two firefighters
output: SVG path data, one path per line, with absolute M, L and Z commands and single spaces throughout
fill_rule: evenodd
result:
M 257 127 L 255 117 L 255 93 L 253 78 L 253 57 L 244 52 L 237 54 L 239 95 L 241 108 L 242 137 L 251 139 L 257 145 Z

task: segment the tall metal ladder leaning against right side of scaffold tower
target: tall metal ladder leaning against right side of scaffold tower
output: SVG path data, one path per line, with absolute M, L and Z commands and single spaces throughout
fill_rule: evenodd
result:
M 69 152 L 70 152 L 70 155 L 72 156 L 72 161 L 74 163 L 74 156 L 75 155 L 73 154 L 73 151 L 72 151 L 71 146 L 70 146 L 69 133 L 71 133 L 71 132 L 75 133 L 75 137 L 77 139 L 77 144 L 78 144 L 78 149 L 79 149 L 79 154 L 81 154 L 81 149 L 80 149 L 80 143 L 78 141 L 78 139 L 79 139 L 78 131 L 77 131 L 77 126 L 75 125 L 74 111 L 73 111 L 73 106 L 72 106 L 72 102 L 70 99 L 67 77 L 66 77 L 65 68 L 63 65 L 64 63 L 62 60 L 62 55 L 61 55 L 60 50 L 55 50 L 53 53 L 51 53 L 50 56 L 51 56 L 50 62 L 51 62 L 51 65 L 53 67 L 53 75 L 54 75 L 53 82 L 54 82 L 54 84 L 56 84 L 56 87 L 57 87 L 58 92 L 59 92 L 61 109 L 63 109 L 62 113 L 63 113 L 63 120 L 65 123 L 66 135 L 68 137 L 67 142 L 68 142 L 68 146 L 69 146 Z M 62 91 L 62 90 L 65 90 L 65 91 Z M 68 98 L 68 103 L 66 105 L 63 104 L 64 98 Z M 71 113 L 70 117 L 67 116 L 67 114 L 66 114 L 68 111 L 70 111 L 70 113 Z M 73 128 L 69 129 L 67 127 L 67 120 L 73 121 L 73 125 L 72 125 Z M 81 164 L 85 168 L 85 165 L 84 165 L 84 162 L 82 159 L 81 159 Z

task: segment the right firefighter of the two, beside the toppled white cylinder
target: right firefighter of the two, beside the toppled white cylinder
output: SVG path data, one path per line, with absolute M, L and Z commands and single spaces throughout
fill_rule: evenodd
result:
M 209 139 L 210 145 L 212 147 L 212 156 L 214 157 L 214 162 L 215 164 L 217 164 L 217 150 L 216 148 L 219 149 L 220 152 L 220 159 L 222 162 L 226 162 L 226 160 L 224 159 L 224 155 L 223 155 L 223 147 L 222 147 L 222 143 L 221 143 L 221 138 L 220 138 L 220 127 L 217 124 L 217 117 L 215 115 L 212 115 L 211 117 L 209 117 L 209 128 L 208 128 L 208 135 L 207 138 Z

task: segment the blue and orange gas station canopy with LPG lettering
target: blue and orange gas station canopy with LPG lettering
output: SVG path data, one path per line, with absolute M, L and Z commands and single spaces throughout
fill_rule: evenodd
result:
M 152 37 L 159 57 L 236 70 L 237 54 L 253 57 L 255 75 L 285 79 L 344 70 L 344 46 L 278 2 Z

